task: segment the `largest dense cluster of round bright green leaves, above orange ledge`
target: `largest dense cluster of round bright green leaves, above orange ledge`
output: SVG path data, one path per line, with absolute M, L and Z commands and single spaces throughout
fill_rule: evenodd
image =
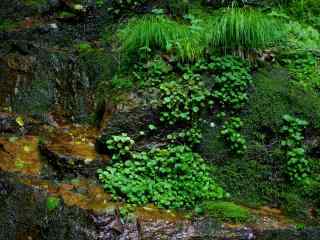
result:
M 212 168 L 186 146 L 155 148 L 99 170 L 99 179 L 114 197 L 129 203 L 154 203 L 165 208 L 192 208 L 225 193 Z

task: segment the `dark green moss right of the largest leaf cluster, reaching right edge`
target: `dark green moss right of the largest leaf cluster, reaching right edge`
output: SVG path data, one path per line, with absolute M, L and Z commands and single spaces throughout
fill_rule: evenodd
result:
M 233 201 L 253 208 L 265 205 L 281 208 L 290 218 L 306 224 L 319 220 L 319 182 L 291 186 L 279 178 L 281 171 L 274 170 L 271 164 L 263 165 L 255 160 L 228 161 L 218 166 L 215 176 Z M 312 218 L 310 209 L 314 209 Z

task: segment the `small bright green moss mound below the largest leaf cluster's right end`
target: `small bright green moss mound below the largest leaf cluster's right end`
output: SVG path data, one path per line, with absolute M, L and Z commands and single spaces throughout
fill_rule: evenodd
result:
M 210 216 L 221 221 L 239 223 L 250 219 L 249 210 L 233 202 L 207 202 L 203 208 Z

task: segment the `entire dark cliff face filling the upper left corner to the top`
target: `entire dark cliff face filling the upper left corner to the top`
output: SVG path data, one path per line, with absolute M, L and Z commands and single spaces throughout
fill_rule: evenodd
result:
M 92 1 L 77 4 L 52 0 L 1 4 L 1 107 L 38 115 L 55 112 L 75 121 L 94 111 L 102 71 L 99 63 L 88 67 L 77 46 L 99 40 L 107 16 L 95 12 Z M 109 61 L 112 69 L 112 56 L 107 56 L 104 62 Z

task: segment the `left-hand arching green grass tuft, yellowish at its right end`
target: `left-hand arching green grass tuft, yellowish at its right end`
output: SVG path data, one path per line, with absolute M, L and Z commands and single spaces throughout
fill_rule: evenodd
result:
M 201 57 L 205 45 L 200 31 L 192 31 L 164 16 L 144 16 L 131 20 L 119 32 L 121 51 L 134 55 L 139 51 L 166 51 L 181 61 L 194 61 Z

